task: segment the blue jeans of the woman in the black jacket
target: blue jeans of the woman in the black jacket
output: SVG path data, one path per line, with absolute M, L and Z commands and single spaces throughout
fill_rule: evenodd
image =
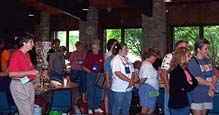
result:
M 171 115 L 189 115 L 189 107 L 170 109 Z

